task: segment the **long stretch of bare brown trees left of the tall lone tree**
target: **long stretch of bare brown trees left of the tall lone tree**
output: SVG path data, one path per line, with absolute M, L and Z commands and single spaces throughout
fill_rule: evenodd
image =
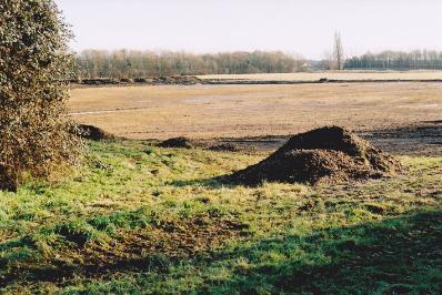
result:
M 78 54 L 77 75 L 140 78 L 181 74 L 289 73 L 301 71 L 305 60 L 283 52 L 187 52 L 86 50 Z

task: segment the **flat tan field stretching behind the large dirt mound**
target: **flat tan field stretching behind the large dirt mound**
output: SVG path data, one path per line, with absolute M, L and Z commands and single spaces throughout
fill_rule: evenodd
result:
M 70 110 L 130 139 L 361 131 L 441 120 L 442 83 L 89 88 L 72 91 Z

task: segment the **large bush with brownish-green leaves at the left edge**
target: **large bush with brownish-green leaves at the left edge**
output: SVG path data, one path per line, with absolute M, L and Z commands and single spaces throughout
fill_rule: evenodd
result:
M 0 189 L 47 177 L 81 146 L 67 116 L 70 31 L 51 0 L 0 2 Z

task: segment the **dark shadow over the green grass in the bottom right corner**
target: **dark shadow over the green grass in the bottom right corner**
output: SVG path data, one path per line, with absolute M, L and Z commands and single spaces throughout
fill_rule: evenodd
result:
M 441 294 L 442 212 L 263 240 L 213 263 L 233 275 L 198 293 Z

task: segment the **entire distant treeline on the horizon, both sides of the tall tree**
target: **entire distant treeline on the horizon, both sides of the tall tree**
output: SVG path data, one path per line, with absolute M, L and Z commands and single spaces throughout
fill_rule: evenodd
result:
M 188 52 L 104 51 L 84 50 L 77 55 L 77 77 L 80 79 L 147 77 L 290 73 L 300 71 L 336 70 L 335 60 L 307 61 L 300 55 L 280 51 L 228 52 L 194 54 Z M 383 51 L 348 58 L 344 70 L 442 70 L 442 52 Z

